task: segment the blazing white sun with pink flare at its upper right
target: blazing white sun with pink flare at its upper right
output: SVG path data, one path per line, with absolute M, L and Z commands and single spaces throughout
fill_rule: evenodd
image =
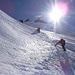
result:
M 59 22 L 59 20 L 67 14 L 67 11 L 68 7 L 66 6 L 66 4 L 59 2 L 52 8 L 49 16 L 54 22 Z

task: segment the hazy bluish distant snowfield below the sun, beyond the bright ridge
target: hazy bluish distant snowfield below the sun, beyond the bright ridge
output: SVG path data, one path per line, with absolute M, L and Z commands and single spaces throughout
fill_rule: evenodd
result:
M 67 35 L 67 36 L 70 35 L 70 36 L 75 37 L 75 30 L 72 29 L 74 27 L 68 27 L 68 26 L 66 26 L 64 24 L 57 24 L 55 26 L 53 23 L 42 23 L 42 22 L 33 22 L 33 21 L 24 22 L 24 24 L 26 24 L 28 26 L 35 27 L 35 28 L 40 27 L 43 30 L 56 32 L 56 33 L 64 34 L 64 35 Z M 54 30 L 54 28 L 55 28 L 55 30 Z M 69 30 L 69 28 L 71 28 L 71 29 Z

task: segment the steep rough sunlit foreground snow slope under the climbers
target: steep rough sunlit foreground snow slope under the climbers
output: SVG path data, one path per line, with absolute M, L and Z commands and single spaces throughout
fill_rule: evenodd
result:
M 35 30 L 0 10 L 0 75 L 75 75 L 75 37 Z

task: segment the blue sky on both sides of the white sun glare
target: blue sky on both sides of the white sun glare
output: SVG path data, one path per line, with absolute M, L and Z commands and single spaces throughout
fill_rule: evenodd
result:
M 70 0 L 58 1 L 67 2 Z M 48 15 L 46 12 L 51 10 L 53 2 L 53 0 L 0 0 L 0 9 L 17 20 L 29 18 L 34 21 L 37 18 L 36 16 L 41 15 L 42 19 L 47 21 Z M 62 24 L 65 24 L 70 30 L 75 30 L 75 0 L 72 0 L 68 7 L 67 18 L 64 19 Z

